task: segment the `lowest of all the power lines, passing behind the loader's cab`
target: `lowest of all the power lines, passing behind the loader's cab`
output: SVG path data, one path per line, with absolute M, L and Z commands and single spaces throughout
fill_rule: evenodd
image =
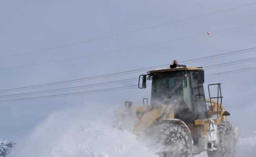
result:
M 224 72 L 221 72 L 221 73 L 213 73 L 213 74 L 209 74 L 209 75 L 205 75 L 205 76 L 206 77 L 213 77 L 213 76 L 216 76 L 216 75 L 229 75 L 229 74 L 241 73 L 241 72 L 252 71 L 252 70 L 256 70 L 256 67 L 238 69 L 238 70 L 232 70 L 232 71 L 224 71 Z M 138 87 L 138 85 L 131 85 L 131 86 L 123 86 L 123 87 L 117 87 L 117 88 L 106 88 L 106 89 L 98 89 L 98 90 L 92 90 L 92 91 L 82 91 L 82 92 L 75 92 L 75 93 L 65 93 L 65 94 L 46 95 L 46 96 L 18 98 L 18 99 L 7 99 L 7 100 L 0 100 L 0 103 L 19 102 L 19 101 L 26 101 L 26 100 L 38 100 L 38 99 L 49 99 L 49 98 L 56 98 L 56 97 L 68 97 L 68 96 L 74 96 L 74 95 L 86 95 L 86 94 L 92 94 L 92 93 L 102 93 L 102 92 L 108 92 L 108 91 L 132 89 L 132 88 L 137 88 L 137 87 Z

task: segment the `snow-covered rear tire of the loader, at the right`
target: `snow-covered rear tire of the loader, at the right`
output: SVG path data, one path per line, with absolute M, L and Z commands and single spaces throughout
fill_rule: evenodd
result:
M 218 130 L 218 144 L 217 150 L 208 151 L 208 157 L 234 157 L 236 153 L 234 137 L 234 130 L 232 125 L 223 121 L 217 127 Z

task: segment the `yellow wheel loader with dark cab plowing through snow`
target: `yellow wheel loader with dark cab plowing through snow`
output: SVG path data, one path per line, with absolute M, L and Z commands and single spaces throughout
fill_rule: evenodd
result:
M 177 64 L 139 76 L 138 87 L 152 81 L 151 100 L 143 106 L 125 106 L 117 112 L 117 128 L 150 141 L 159 157 L 190 157 L 207 151 L 208 157 L 233 157 L 238 129 L 232 128 L 229 111 L 222 106 L 221 84 L 209 84 L 205 98 L 204 70 Z M 214 95 L 211 90 L 216 89 Z

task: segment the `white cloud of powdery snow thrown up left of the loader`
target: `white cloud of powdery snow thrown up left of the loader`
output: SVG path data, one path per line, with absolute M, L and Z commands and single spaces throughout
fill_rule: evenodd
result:
M 55 113 L 12 156 L 155 157 L 134 135 L 113 128 L 112 111 L 82 108 Z

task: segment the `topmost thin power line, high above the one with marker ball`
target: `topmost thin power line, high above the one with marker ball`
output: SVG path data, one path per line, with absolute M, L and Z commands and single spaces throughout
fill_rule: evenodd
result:
M 106 35 L 106 36 L 102 36 L 102 37 L 98 37 L 98 38 L 91 38 L 91 39 L 88 39 L 88 40 L 73 42 L 73 43 L 69 43 L 69 44 L 63 44 L 63 45 L 59 45 L 59 46 L 46 47 L 46 48 L 38 49 L 38 50 L 35 50 L 35 51 L 27 51 L 27 52 L 24 52 L 24 53 L 18 53 L 18 54 L 14 54 L 14 55 L 3 56 L 3 57 L 0 57 L 0 58 L 22 56 L 22 55 L 27 55 L 27 54 L 31 54 L 31 53 L 38 53 L 38 52 L 48 51 L 48 50 L 52 50 L 52 49 L 59 49 L 59 48 L 62 48 L 62 47 L 75 46 L 75 45 L 78 45 L 78 44 L 84 44 L 84 43 L 87 43 L 87 42 L 102 40 L 102 39 L 105 39 L 105 38 L 117 37 L 117 36 L 126 35 L 126 34 L 130 34 L 130 33 L 134 33 L 134 32 L 144 31 L 144 30 L 147 30 L 147 29 L 157 28 L 157 27 L 166 26 L 166 25 L 170 25 L 170 24 L 176 24 L 176 23 L 179 23 L 179 22 L 184 22 L 184 21 L 187 21 L 187 20 L 201 18 L 201 17 L 208 16 L 208 15 L 223 13 L 223 12 L 226 12 L 226 11 L 239 9 L 241 7 L 247 7 L 247 6 L 254 5 L 254 4 L 256 4 L 256 2 L 249 3 L 249 4 L 244 4 L 244 5 L 239 5 L 237 7 L 232 7 L 232 8 L 228 8 L 228 9 L 218 10 L 218 11 L 214 11 L 214 12 L 211 12 L 211 13 L 192 16 L 192 17 L 189 17 L 189 18 L 184 18 L 184 19 L 181 19 L 181 20 L 173 21 L 173 22 L 166 22 L 166 23 L 163 23 L 163 24 L 158 24 L 158 25 L 154 25 L 154 26 L 133 29 L 131 31 L 126 31 L 126 32 L 117 33 L 117 34 L 113 34 L 113 35 Z

